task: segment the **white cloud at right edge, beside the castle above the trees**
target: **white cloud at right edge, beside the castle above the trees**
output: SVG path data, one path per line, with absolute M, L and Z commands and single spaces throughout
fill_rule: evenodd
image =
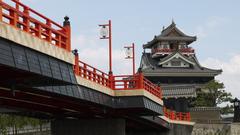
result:
M 225 84 L 226 90 L 234 97 L 240 97 L 240 54 L 235 54 L 228 61 L 217 58 L 208 58 L 203 62 L 204 66 L 223 69 L 222 75 L 217 79 Z

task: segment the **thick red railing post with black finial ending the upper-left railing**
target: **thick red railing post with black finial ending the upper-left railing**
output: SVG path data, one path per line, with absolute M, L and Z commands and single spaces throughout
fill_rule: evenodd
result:
M 63 27 L 64 27 L 64 29 L 66 31 L 66 35 L 67 35 L 65 49 L 68 51 L 71 51 L 71 26 L 70 26 L 69 17 L 65 16 L 64 20 L 65 21 L 63 22 Z

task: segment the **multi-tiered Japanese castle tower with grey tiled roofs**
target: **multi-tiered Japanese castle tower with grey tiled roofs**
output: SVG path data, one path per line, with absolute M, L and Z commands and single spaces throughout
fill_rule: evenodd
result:
M 190 47 L 196 39 L 179 30 L 173 21 L 143 45 L 140 68 L 146 78 L 162 87 L 164 104 L 169 109 L 188 111 L 188 99 L 196 97 L 203 84 L 222 72 L 200 65 Z

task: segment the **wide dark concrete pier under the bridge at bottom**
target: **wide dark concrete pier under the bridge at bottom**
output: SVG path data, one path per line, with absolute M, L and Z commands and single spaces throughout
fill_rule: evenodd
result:
M 125 135 L 125 120 L 55 120 L 51 130 L 52 135 Z

